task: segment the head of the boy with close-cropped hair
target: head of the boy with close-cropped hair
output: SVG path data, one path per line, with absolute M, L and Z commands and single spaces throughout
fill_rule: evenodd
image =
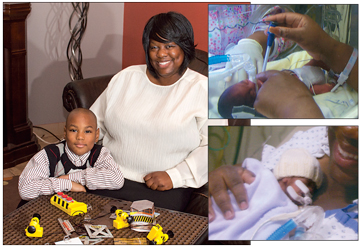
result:
M 71 152 L 83 155 L 99 140 L 95 114 L 84 108 L 72 110 L 66 119 L 64 138 Z

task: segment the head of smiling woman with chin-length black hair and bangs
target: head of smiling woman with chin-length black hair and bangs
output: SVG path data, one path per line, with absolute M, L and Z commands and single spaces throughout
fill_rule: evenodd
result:
M 142 42 L 147 75 L 155 84 L 175 83 L 195 57 L 191 23 L 176 12 L 151 17 L 144 28 Z

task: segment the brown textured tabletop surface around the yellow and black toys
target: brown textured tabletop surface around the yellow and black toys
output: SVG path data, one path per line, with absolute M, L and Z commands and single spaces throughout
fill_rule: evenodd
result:
M 92 209 L 88 211 L 88 214 L 92 219 L 108 212 L 109 210 L 106 209 L 106 207 L 109 207 L 111 204 L 129 211 L 132 204 L 132 202 L 89 193 L 68 192 L 67 194 L 78 202 L 90 204 Z M 3 220 L 3 244 L 44 245 L 62 241 L 65 233 L 58 223 L 58 218 L 71 221 L 73 217 L 51 205 L 51 197 L 52 196 L 41 196 L 6 215 Z M 174 237 L 170 238 L 165 244 L 197 244 L 205 235 L 207 236 L 207 217 L 157 208 L 156 205 L 155 212 L 160 213 L 156 218 L 156 223 L 161 225 L 163 232 L 166 233 L 168 230 L 174 232 Z M 29 238 L 25 235 L 25 229 L 29 226 L 34 213 L 38 213 L 41 216 L 40 226 L 44 229 L 42 238 Z M 100 218 L 112 222 L 112 220 L 109 219 L 109 215 Z M 95 222 L 91 223 L 94 224 Z M 147 232 L 136 232 L 130 228 L 115 229 L 111 227 L 109 230 L 114 238 L 146 238 L 148 234 Z M 72 237 L 75 237 L 74 234 L 77 236 L 76 233 L 73 233 Z M 104 238 L 104 240 L 98 244 L 114 244 L 114 238 Z

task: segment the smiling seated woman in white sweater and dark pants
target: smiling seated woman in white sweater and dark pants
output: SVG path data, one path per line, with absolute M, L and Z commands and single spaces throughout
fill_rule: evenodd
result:
M 207 182 L 207 77 L 188 68 L 194 34 L 183 15 L 153 16 L 142 42 L 146 65 L 120 71 L 90 108 L 126 178 L 94 193 L 182 211 Z

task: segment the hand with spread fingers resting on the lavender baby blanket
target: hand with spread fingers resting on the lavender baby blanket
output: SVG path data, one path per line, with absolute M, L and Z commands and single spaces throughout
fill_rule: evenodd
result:
M 233 219 L 235 216 L 227 190 L 233 193 L 241 210 L 247 209 L 248 199 L 244 183 L 251 184 L 254 180 L 255 175 L 242 168 L 241 164 L 221 166 L 209 173 L 209 194 L 214 198 L 225 219 Z M 209 197 L 209 222 L 214 219 L 215 212 Z

